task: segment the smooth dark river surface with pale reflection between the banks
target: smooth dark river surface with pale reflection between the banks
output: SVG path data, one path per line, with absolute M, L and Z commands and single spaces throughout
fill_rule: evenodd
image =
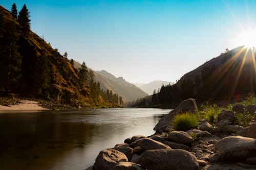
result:
M 98 153 L 152 135 L 170 109 L 0 113 L 0 169 L 86 169 Z

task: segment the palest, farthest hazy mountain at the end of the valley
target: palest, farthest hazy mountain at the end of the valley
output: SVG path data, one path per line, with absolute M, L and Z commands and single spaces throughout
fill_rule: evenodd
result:
M 161 89 L 162 85 L 173 85 L 173 82 L 166 82 L 166 81 L 153 81 L 147 84 L 137 84 L 141 90 L 145 91 L 148 95 L 153 94 L 154 89 L 156 89 L 156 91 L 158 89 Z

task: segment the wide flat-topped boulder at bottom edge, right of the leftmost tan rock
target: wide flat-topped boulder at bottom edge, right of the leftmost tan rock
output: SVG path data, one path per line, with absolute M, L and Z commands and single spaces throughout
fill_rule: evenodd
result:
M 184 150 L 147 150 L 139 159 L 139 163 L 147 170 L 198 170 L 197 158 Z

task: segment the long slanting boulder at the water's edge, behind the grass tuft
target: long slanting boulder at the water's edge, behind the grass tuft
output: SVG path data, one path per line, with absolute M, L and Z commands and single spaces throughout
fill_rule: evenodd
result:
M 155 126 L 154 130 L 156 132 L 162 133 L 166 131 L 168 126 L 172 123 L 172 120 L 175 115 L 190 112 L 194 113 L 197 111 L 197 103 L 195 99 L 187 99 L 180 103 L 180 105 L 174 110 L 170 111 L 169 114 L 163 116 L 158 124 Z

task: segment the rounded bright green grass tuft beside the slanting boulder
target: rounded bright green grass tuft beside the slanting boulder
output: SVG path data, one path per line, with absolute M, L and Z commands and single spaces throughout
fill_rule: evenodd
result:
M 191 113 L 178 114 L 174 117 L 173 128 L 179 131 L 188 131 L 197 128 L 197 116 Z

